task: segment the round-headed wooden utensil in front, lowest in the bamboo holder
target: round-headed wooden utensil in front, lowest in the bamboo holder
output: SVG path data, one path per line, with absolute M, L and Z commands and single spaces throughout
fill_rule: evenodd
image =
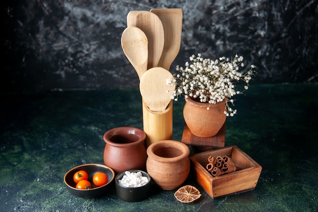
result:
M 167 84 L 167 79 L 172 78 L 173 75 L 162 67 L 151 68 L 141 77 L 140 94 L 151 111 L 164 111 L 169 105 L 175 85 Z

